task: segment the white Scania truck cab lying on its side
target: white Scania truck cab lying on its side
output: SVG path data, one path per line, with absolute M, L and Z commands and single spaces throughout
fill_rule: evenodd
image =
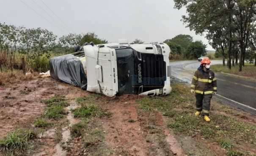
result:
M 86 45 L 87 90 L 106 96 L 167 95 L 171 92 L 170 48 L 160 44 L 118 43 Z

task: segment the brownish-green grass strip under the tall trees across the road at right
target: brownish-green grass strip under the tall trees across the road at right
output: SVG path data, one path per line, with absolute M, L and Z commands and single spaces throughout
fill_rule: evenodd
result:
M 231 66 L 231 69 L 228 69 L 227 66 L 223 65 L 212 65 L 211 69 L 215 72 L 224 72 L 229 74 L 235 74 L 239 76 L 248 76 L 248 77 L 256 77 L 256 66 L 250 63 L 245 63 L 245 66 L 242 67 L 242 71 L 238 71 L 239 65 Z

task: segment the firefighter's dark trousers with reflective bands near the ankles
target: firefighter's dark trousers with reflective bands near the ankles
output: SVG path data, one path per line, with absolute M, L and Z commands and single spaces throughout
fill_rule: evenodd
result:
M 195 93 L 195 106 L 198 112 L 202 111 L 202 115 L 209 116 L 212 94 Z

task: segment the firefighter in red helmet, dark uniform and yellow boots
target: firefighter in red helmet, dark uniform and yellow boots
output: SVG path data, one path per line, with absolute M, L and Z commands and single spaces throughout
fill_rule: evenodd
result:
M 210 69 L 211 61 L 208 58 L 201 60 L 201 65 L 192 79 L 190 91 L 195 94 L 195 116 L 200 114 L 204 120 L 210 121 L 209 110 L 212 96 L 217 93 L 217 81 L 214 72 Z

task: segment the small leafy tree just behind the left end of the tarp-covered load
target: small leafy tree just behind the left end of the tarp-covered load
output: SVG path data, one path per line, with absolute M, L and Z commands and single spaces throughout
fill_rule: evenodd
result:
M 33 69 L 33 64 L 36 65 L 35 69 L 40 71 L 41 57 L 49 58 L 49 51 L 52 50 L 52 47 L 55 45 L 55 36 L 52 32 L 36 28 L 36 29 L 26 29 L 22 36 L 22 49 L 20 53 L 27 56 L 27 61 Z

